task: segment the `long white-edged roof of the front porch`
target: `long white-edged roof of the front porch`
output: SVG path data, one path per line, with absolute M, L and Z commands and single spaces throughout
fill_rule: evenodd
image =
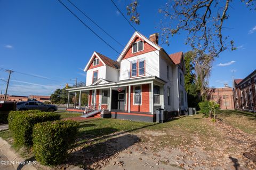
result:
M 108 87 L 123 87 L 123 86 L 129 86 L 129 85 L 140 85 L 140 84 L 148 84 L 148 83 L 156 83 L 159 85 L 166 84 L 165 80 L 158 78 L 156 76 L 150 76 L 150 77 L 126 79 L 118 82 L 109 82 L 105 84 L 95 84 L 90 86 L 67 88 L 66 90 L 69 92 L 77 92 L 77 91 L 94 90 L 95 88 L 102 89 L 102 88 L 108 88 Z

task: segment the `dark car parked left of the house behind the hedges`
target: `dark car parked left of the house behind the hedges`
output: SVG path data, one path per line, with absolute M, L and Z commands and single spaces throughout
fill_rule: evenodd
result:
M 18 102 L 16 110 L 41 110 L 41 111 L 56 111 L 58 107 L 51 104 L 44 104 L 39 101 L 28 101 L 28 102 Z

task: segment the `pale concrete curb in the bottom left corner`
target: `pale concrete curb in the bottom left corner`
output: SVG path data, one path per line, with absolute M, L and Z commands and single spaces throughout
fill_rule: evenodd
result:
M 33 165 L 27 164 L 27 161 L 29 160 L 22 158 L 18 153 L 13 151 L 11 145 L 3 140 L 2 137 L 0 137 L 0 150 L 9 161 L 13 161 L 12 165 L 15 169 L 37 170 Z M 33 164 L 33 162 L 31 163 Z

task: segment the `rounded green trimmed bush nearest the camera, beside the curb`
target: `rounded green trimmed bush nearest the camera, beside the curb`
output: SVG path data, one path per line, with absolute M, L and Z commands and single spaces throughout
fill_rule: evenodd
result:
M 37 161 L 44 165 L 58 165 L 75 142 L 79 123 L 57 120 L 38 123 L 33 130 L 33 151 Z

